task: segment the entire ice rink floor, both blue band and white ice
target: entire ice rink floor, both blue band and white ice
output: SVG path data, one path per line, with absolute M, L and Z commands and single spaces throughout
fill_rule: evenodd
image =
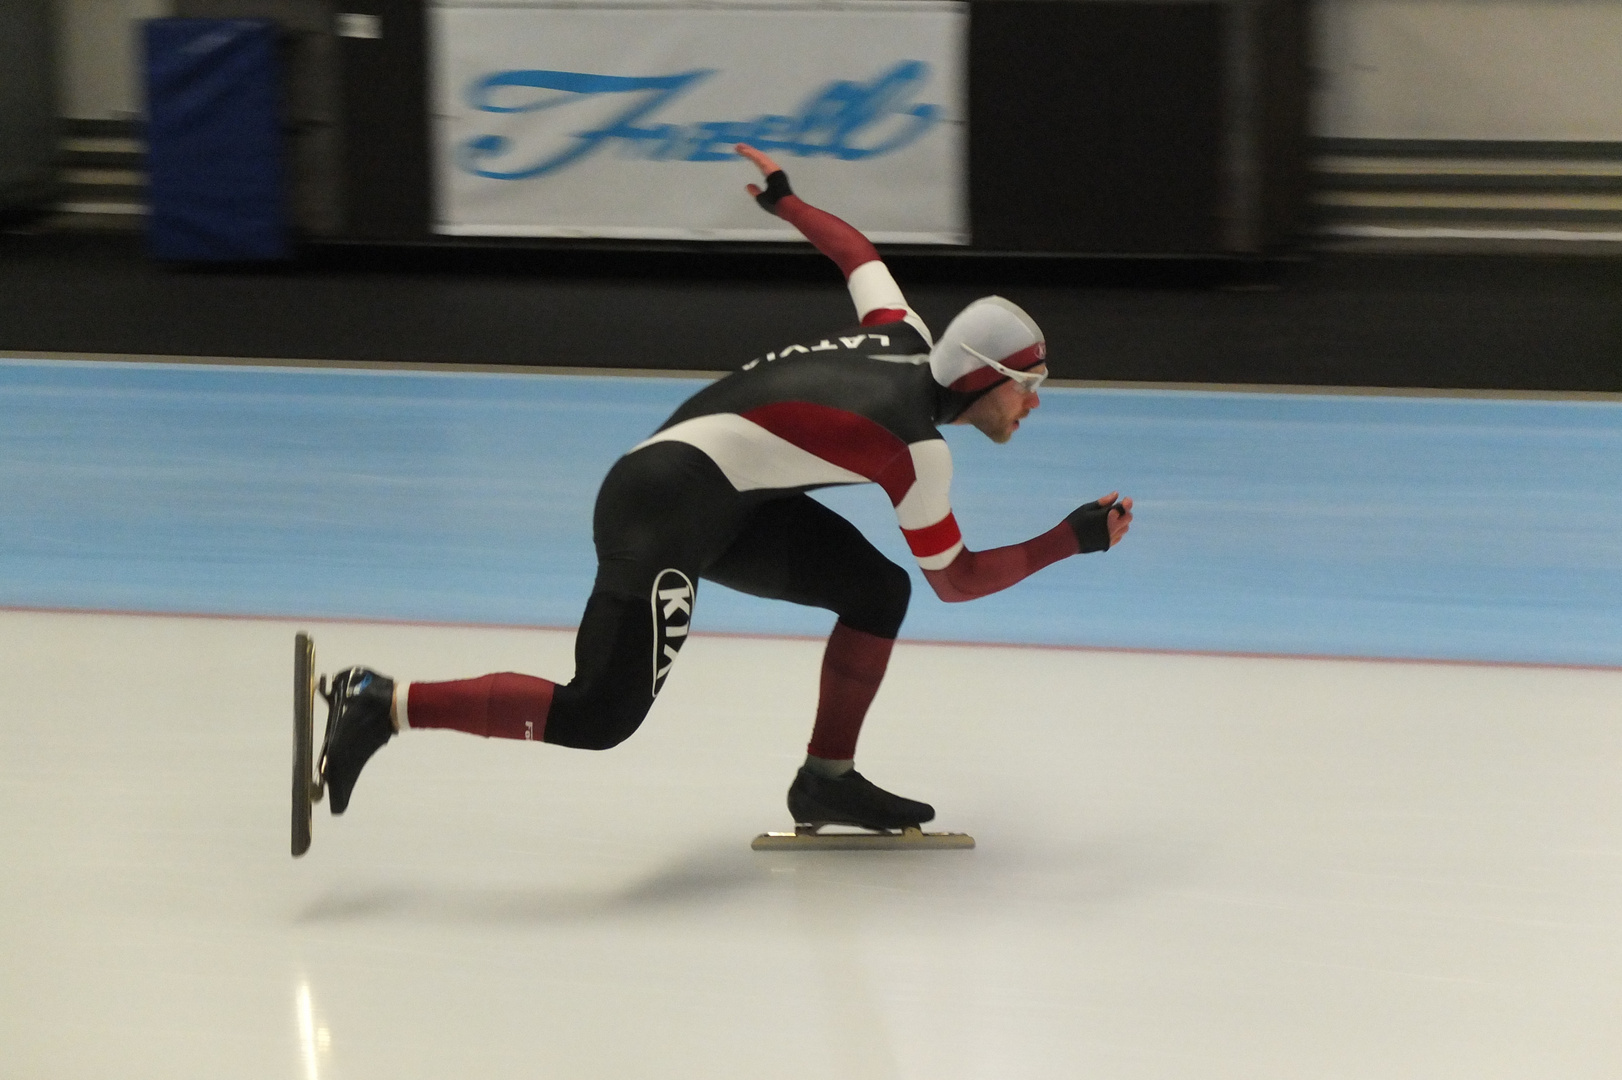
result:
M 624 746 L 409 733 L 289 858 L 294 632 L 566 675 L 590 490 L 691 389 L 0 365 L 0 1075 L 1622 1075 L 1614 401 L 1061 388 L 954 441 L 973 546 L 1140 506 L 915 595 L 860 765 L 973 851 L 751 851 L 826 618 L 712 590 Z

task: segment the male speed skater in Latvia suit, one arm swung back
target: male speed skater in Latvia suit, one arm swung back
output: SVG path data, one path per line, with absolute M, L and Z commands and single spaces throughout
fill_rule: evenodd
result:
M 584 749 L 623 743 L 654 705 L 686 641 L 697 582 L 709 579 L 839 616 L 822 655 L 809 754 L 788 788 L 795 821 L 920 825 L 934 808 L 890 795 L 853 767 L 912 582 L 806 491 L 884 488 L 925 581 L 947 602 L 1007 589 L 1126 535 L 1132 499 L 1111 493 L 1025 543 L 965 548 L 947 501 L 952 457 L 936 426 L 968 423 L 1007 443 L 1040 404 L 1041 331 L 1007 300 L 986 297 L 933 341 L 866 237 L 795 196 L 770 157 L 736 149 L 766 178 L 764 190 L 748 185 L 749 195 L 843 271 L 860 324 L 782 345 L 709 384 L 608 470 L 592 521 L 597 582 L 569 683 L 337 673 L 320 764 L 334 814 L 349 806 L 367 759 L 410 728 Z

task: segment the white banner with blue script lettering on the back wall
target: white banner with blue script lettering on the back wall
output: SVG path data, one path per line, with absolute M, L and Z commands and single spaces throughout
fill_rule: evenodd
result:
M 788 240 L 743 185 L 890 243 L 967 243 L 967 3 L 475 5 L 433 11 L 436 232 Z

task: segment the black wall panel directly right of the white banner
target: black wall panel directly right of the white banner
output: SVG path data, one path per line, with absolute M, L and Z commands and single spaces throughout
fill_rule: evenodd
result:
M 983 0 L 970 19 L 976 248 L 1221 250 L 1223 5 Z

